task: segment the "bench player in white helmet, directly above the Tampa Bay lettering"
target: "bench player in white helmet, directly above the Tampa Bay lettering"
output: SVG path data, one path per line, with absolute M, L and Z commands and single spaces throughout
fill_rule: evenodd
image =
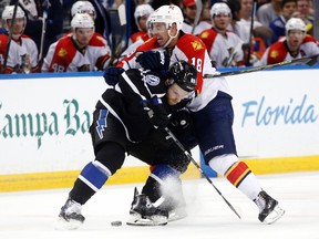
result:
M 42 72 L 81 72 L 104 70 L 110 62 L 105 39 L 94 34 L 94 21 L 88 13 L 76 13 L 72 33 L 50 45 Z

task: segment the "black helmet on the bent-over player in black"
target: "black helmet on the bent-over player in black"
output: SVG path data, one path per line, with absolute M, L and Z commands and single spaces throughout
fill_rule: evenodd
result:
M 176 83 L 184 91 L 192 92 L 197 85 L 197 71 L 194 65 L 186 61 L 173 63 L 168 70 L 171 84 Z

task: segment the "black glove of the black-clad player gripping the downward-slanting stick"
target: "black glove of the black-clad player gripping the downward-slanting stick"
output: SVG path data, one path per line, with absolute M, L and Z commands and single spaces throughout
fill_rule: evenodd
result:
M 144 110 L 147 111 L 148 117 L 155 128 L 165 128 L 168 123 L 168 114 L 161 98 L 154 96 L 147 103 L 144 102 Z

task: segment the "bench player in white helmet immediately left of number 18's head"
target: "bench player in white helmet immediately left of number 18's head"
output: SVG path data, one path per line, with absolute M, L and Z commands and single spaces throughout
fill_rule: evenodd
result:
M 135 23 L 138 28 L 138 31 L 133 33 L 130 37 L 128 45 L 136 42 L 141 38 L 143 39 L 143 38 L 145 38 L 145 35 L 147 35 L 146 21 L 147 21 L 150 14 L 152 14 L 152 12 L 154 12 L 154 9 L 150 4 L 140 4 L 136 7 L 136 9 L 134 11 L 134 19 L 135 19 Z

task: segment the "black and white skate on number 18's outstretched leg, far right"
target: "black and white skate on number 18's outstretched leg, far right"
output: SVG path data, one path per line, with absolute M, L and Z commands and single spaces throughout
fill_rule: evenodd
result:
M 285 210 L 279 207 L 278 201 L 264 190 L 258 194 L 254 201 L 259 207 L 258 219 L 264 224 L 274 224 L 285 214 Z

